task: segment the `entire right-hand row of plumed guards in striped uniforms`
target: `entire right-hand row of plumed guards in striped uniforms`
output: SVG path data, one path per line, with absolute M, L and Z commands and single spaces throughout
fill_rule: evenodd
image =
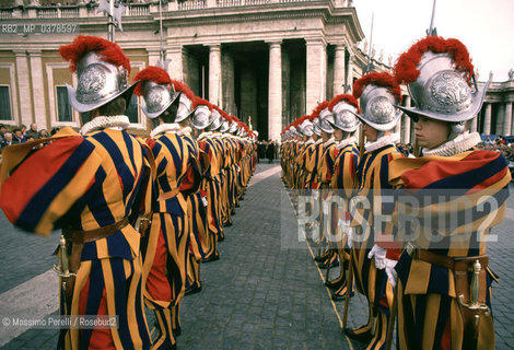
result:
M 414 107 L 401 106 L 400 83 Z M 487 86 L 477 88 L 460 42 L 427 37 L 398 58 L 394 75 L 365 74 L 352 95 L 282 131 L 283 182 L 301 229 L 319 245 L 322 268 L 340 265 L 325 284 L 346 301 L 344 332 L 365 349 L 390 348 L 395 328 L 399 349 L 494 348 L 498 277 L 486 246 L 511 175 L 501 152 L 475 149 L 480 136 L 469 132 Z M 416 122 L 419 158 L 395 147 L 401 113 Z M 367 300 L 369 322 L 347 328 L 354 290 Z

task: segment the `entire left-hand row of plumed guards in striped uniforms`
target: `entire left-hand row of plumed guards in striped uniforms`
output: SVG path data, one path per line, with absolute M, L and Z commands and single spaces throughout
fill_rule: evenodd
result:
M 77 71 L 68 94 L 84 124 L 5 148 L 0 207 L 25 231 L 62 230 L 61 315 L 117 316 L 107 328 L 61 329 L 59 349 L 174 349 L 182 299 L 201 290 L 200 262 L 219 259 L 257 135 L 162 68 L 129 84 L 115 43 L 78 36 L 60 54 Z M 152 125 L 145 140 L 125 131 L 132 93 Z M 155 313 L 153 339 L 145 307 Z

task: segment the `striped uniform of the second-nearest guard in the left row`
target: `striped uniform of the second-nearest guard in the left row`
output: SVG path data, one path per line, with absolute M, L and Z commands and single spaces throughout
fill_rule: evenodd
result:
M 147 143 L 155 159 L 152 222 L 142 241 L 147 277 L 147 305 L 155 311 L 161 335 L 152 349 L 167 349 L 179 331 L 179 303 L 185 291 L 189 218 L 187 202 L 178 190 L 191 162 L 177 125 L 161 125 L 163 132 Z M 168 129 L 166 129 L 166 127 Z

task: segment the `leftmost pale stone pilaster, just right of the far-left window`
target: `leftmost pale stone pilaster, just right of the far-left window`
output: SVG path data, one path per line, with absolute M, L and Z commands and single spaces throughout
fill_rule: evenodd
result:
M 16 57 L 16 80 L 17 80 L 17 93 L 20 101 L 20 120 L 28 128 L 32 120 L 34 120 L 34 112 L 32 108 L 32 91 L 31 80 L 28 78 L 28 62 L 25 50 L 13 50 Z M 17 106 L 14 106 L 16 108 Z

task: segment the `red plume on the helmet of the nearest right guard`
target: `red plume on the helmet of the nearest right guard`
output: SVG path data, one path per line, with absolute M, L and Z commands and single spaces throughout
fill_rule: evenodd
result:
M 441 36 L 428 36 L 414 45 L 407 52 L 400 55 L 396 61 L 394 71 L 398 83 L 411 83 L 420 74 L 416 67 L 421 61 L 421 57 L 428 50 L 435 54 L 448 52 L 455 62 L 455 68 L 467 75 L 468 82 L 474 74 L 474 66 L 469 59 L 469 52 L 466 46 L 458 39 L 444 39 Z

